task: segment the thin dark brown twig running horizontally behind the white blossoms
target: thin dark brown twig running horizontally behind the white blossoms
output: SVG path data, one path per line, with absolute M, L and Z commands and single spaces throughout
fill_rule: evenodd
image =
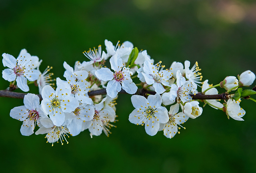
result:
M 88 92 L 89 96 L 94 96 L 94 95 L 105 95 L 106 89 L 98 89 L 95 91 L 90 91 Z M 126 93 L 126 91 L 124 91 L 123 89 L 121 89 L 121 91 L 119 92 L 120 94 L 128 94 Z M 13 91 L 8 91 L 6 90 L 0 90 L 0 97 L 10 97 L 10 98 L 18 98 L 18 99 L 23 99 L 24 95 L 26 95 L 27 93 L 18 93 L 18 92 L 13 92 Z M 146 96 L 147 94 L 156 94 L 155 91 L 149 91 L 146 89 L 138 89 L 137 92 L 135 93 L 136 95 L 142 95 L 142 96 Z M 40 100 L 42 100 L 42 96 L 40 94 L 37 94 L 38 97 L 40 98 Z M 196 95 L 194 94 L 190 94 L 190 96 L 193 99 L 200 99 L 200 100 L 205 100 L 205 99 L 228 99 L 230 98 L 229 94 L 226 93 L 222 93 L 222 94 L 215 94 L 215 95 L 205 95 L 202 93 L 197 93 Z

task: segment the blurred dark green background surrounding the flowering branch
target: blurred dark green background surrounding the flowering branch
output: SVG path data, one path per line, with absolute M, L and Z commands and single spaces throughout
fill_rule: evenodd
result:
M 17 57 L 22 48 L 53 66 L 62 76 L 66 61 L 108 39 L 129 40 L 169 67 L 173 61 L 198 61 L 203 80 L 217 84 L 226 76 L 255 70 L 255 0 L 0 0 L 0 52 Z M 86 60 L 87 61 L 87 60 Z M 0 68 L 4 70 L 3 65 Z M 64 79 L 62 77 L 62 79 Z M 0 89 L 8 82 L 0 79 Z M 255 83 L 254 83 L 255 84 Z M 31 87 L 31 92 L 38 92 Z M 20 90 L 18 90 L 20 91 Z M 220 90 L 221 92 L 223 90 Z M 0 98 L 1 172 L 256 172 L 255 103 L 244 100 L 245 121 L 205 107 L 181 133 L 151 137 L 128 121 L 129 95 L 118 97 L 117 128 L 110 137 L 90 139 L 88 131 L 69 144 L 45 143 L 44 135 L 25 137 L 22 122 L 9 116 L 23 100 Z

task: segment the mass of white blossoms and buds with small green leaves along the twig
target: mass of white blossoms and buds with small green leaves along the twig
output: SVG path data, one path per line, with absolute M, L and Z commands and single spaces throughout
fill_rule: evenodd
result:
M 162 61 L 154 63 L 146 50 L 139 52 L 131 42 L 120 44 L 118 41 L 113 46 L 105 40 L 105 46 L 106 51 L 102 46 L 84 51 L 88 61 L 77 61 L 74 68 L 64 62 L 64 75 L 56 80 L 48 73 L 52 67 L 41 73 L 42 60 L 25 49 L 17 59 L 9 54 L 2 55 L 4 66 L 8 67 L 2 71 L 2 77 L 12 82 L 9 90 L 20 88 L 26 92 L 28 84 L 36 84 L 42 96 L 40 103 L 38 95 L 28 93 L 24 105 L 10 111 L 12 118 L 23 121 L 22 135 L 32 135 L 38 128 L 35 134 L 46 134 L 47 142 L 52 145 L 59 141 L 68 143 L 67 137 L 86 129 L 91 137 L 101 135 L 102 131 L 109 136 L 110 128 L 116 127 L 113 123 L 117 121 L 115 105 L 119 92 L 132 95 L 135 109 L 129 115 L 131 123 L 144 126 L 148 135 L 163 131 L 168 138 L 180 133 L 181 128 L 185 129 L 183 124 L 189 118 L 202 115 L 200 102 L 226 112 L 228 118 L 241 121 L 245 111 L 240 107 L 240 98 L 256 101 L 250 97 L 256 93 L 255 89 L 242 90 L 255 80 L 250 70 L 238 75 L 238 79 L 228 76 L 213 86 L 208 80 L 202 81 L 198 62 L 192 67 L 189 61 L 184 65 L 173 62 L 166 68 Z M 105 66 L 107 60 L 110 68 Z M 56 88 L 51 84 L 54 81 Z M 224 101 L 217 98 L 217 87 L 226 90 Z M 90 94 L 93 91 L 103 92 Z

